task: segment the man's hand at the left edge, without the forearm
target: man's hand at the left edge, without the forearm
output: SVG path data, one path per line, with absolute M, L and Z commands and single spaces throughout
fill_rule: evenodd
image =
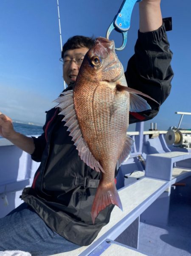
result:
M 11 138 L 14 136 L 14 128 L 11 118 L 6 115 L 3 115 L 0 112 L 0 135 L 4 138 Z

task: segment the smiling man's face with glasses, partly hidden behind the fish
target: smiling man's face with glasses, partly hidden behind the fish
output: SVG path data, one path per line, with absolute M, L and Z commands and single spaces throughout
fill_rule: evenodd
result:
M 79 58 L 83 59 L 83 55 L 87 53 L 89 49 L 81 47 L 78 49 L 67 50 L 64 54 L 63 64 L 63 78 L 67 85 L 75 83 L 81 63 L 78 63 Z M 76 61 L 75 61 L 76 59 Z

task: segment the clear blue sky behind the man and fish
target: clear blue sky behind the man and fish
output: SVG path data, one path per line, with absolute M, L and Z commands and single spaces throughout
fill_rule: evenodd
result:
M 59 0 L 62 41 L 73 35 L 105 36 L 122 3 L 117 0 Z M 172 90 L 152 122 L 158 129 L 177 126 L 176 111 L 191 112 L 191 1 L 161 0 L 163 17 L 172 17 L 168 32 L 173 55 Z M 45 110 L 63 89 L 57 0 L 0 1 L 0 111 L 12 119 L 43 124 Z M 126 69 L 138 31 L 138 3 L 133 9 L 126 48 L 117 52 Z M 114 32 L 116 46 L 122 37 Z M 150 127 L 151 121 L 145 124 Z M 182 127 L 191 128 L 191 116 Z

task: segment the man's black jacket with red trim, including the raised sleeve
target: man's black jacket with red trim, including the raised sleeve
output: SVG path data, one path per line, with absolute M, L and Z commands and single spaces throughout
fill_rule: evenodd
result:
M 139 32 L 135 55 L 129 60 L 125 73 L 128 86 L 161 104 L 171 88 L 171 56 L 164 24 L 154 32 Z M 151 111 L 131 113 L 129 122 L 153 118 L 159 106 L 153 102 L 149 104 Z M 52 230 L 73 243 L 88 245 L 109 222 L 114 206 L 106 207 L 95 219 L 95 224 L 92 223 L 90 213 L 100 173 L 81 161 L 62 118 L 58 109 L 49 110 L 44 133 L 34 138 L 32 159 L 41 164 L 32 187 L 23 190 L 22 199 Z

